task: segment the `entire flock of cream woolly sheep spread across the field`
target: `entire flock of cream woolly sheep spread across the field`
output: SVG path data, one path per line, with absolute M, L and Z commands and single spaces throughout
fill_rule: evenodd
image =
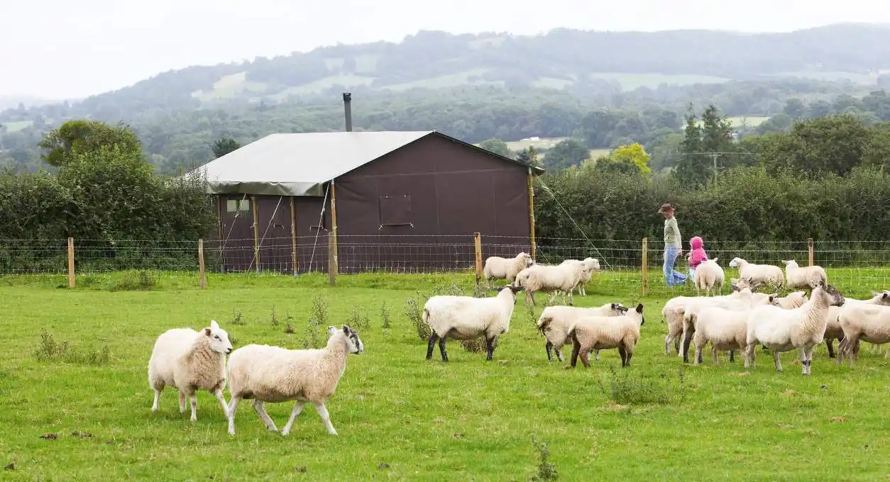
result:
M 828 356 L 840 364 L 852 366 L 859 353 L 860 341 L 872 344 L 890 342 L 890 291 L 874 291 L 867 300 L 847 298 L 829 284 L 828 273 L 818 266 L 801 268 L 794 260 L 778 266 L 758 265 L 734 258 L 729 266 L 739 271 L 732 279 L 730 293 L 724 294 L 724 271 L 717 259 L 702 263 L 691 279 L 696 296 L 676 296 L 661 309 L 666 325 L 665 355 L 671 347 L 684 363 L 700 365 L 703 352 L 710 347 L 712 363 L 719 353 L 744 357 L 746 370 L 754 369 L 757 351 L 773 357 L 775 369 L 782 371 L 781 353 L 797 351 L 801 371 L 812 372 L 814 349 L 826 344 Z M 537 304 L 535 293 L 548 293 L 549 299 L 538 317 L 536 330 L 544 338 L 547 362 L 553 352 L 563 362 L 561 348 L 570 345 L 570 364 L 578 358 L 590 367 L 589 355 L 599 360 L 603 349 L 616 349 L 621 366 L 631 366 L 635 347 L 645 322 L 643 303 L 622 304 L 613 300 L 602 306 L 575 307 L 573 292 L 586 296 L 585 285 L 600 269 L 595 258 L 564 260 L 559 264 L 540 264 L 529 253 L 514 258 L 492 256 L 485 261 L 483 282 L 490 296 L 439 295 L 423 306 L 422 320 L 430 328 L 426 359 L 433 359 L 438 344 L 441 362 L 448 362 L 446 341 L 484 339 L 486 359 L 494 358 L 497 341 L 509 335 L 518 293 L 524 291 L 529 307 Z M 497 280 L 506 285 L 497 286 Z M 758 290 L 766 289 L 766 293 Z M 780 291 L 789 290 L 785 296 Z M 798 291 L 790 291 L 798 290 Z M 702 295 L 702 293 L 704 293 Z M 562 305 L 551 304 L 562 296 Z M 565 304 L 568 302 L 568 304 Z M 151 410 L 160 410 L 160 398 L 166 387 L 179 393 L 179 409 L 184 413 L 190 402 L 190 420 L 197 420 L 196 392 L 213 394 L 223 409 L 228 432 L 235 435 L 235 414 L 241 400 L 251 400 L 263 425 L 286 436 L 310 403 L 319 414 L 329 434 L 337 432 L 328 414 L 326 402 L 336 390 L 351 354 L 364 352 L 364 343 L 349 325 L 328 326 L 327 344 L 322 349 L 288 349 L 265 344 L 248 344 L 233 349 L 228 333 L 216 322 L 195 331 L 174 328 L 161 333 L 152 349 L 148 379 L 154 390 Z M 839 341 L 837 354 L 833 341 Z M 694 350 L 692 360 L 688 354 Z M 890 358 L 890 350 L 886 357 Z M 226 402 L 223 390 L 228 388 Z M 293 410 L 279 430 L 266 413 L 267 403 L 293 401 Z

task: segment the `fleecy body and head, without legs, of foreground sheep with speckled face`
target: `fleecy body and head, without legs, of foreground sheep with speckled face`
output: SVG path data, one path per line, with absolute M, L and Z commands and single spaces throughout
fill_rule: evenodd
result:
M 229 357 L 229 391 L 232 397 L 270 403 L 324 403 L 334 394 L 346 370 L 349 350 L 347 336 L 340 330 L 328 338 L 323 349 L 241 347 Z

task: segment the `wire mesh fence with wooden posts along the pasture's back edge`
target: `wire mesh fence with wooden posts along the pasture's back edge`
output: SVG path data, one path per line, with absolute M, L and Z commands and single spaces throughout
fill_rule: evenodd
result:
M 336 239 L 336 242 L 335 242 Z M 460 273 L 473 277 L 478 259 L 514 257 L 531 253 L 528 237 L 482 234 L 466 236 L 317 236 L 206 240 L 202 257 L 206 273 L 276 272 L 291 275 L 320 272 L 333 267 L 337 274 L 357 273 Z M 329 251 L 336 256 L 328 256 Z M 782 261 L 800 266 L 813 262 L 827 269 L 829 283 L 851 296 L 890 286 L 890 241 L 711 241 L 708 258 L 717 259 L 729 280 L 738 270 L 729 267 L 739 257 L 757 264 L 784 268 Z M 539 238 L 538 263 L 559 264 L 566 259 L 596 258 L 601 269 L 587 285 L 587 293 L 639 293 L 667 297 L 694 293 L 692 282 L 669 287 L 663 270 L 664 244 L 659 240 Z M 674 269 L 687 273 L 682 253 Z M 0 240 L 0 276 L 96 275 L 124 270 L 156 273 L 188 272 L 198 279 L 198 240 Z M 197 281 L 196 281 L 197 282 Z

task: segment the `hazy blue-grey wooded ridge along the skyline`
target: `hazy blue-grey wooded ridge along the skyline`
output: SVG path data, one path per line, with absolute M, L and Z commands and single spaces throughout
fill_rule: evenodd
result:
M 787 34 L 556 29 L 543 36 L 421 31 L 401 43 L 338 45 L 239 64 L 168 71 L 76 104 L 74 116 L 265 103 L 353 92 L 530 86 L 573 94 L 659 84 L 798 76 L 875 85 L 890 73 L 890 28 L 838 24 Z

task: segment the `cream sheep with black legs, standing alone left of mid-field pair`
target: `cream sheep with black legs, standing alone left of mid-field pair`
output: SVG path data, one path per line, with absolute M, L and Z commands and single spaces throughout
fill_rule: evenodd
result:
M 445 341 L 473 340 L 485 336 L 488 355 L 491 360 L 498 336 L 510 331 L 510 318 L 516 303 L 516 293 L 521 287 L 506 285 L 492 298 L 473 296 L 433 296 L 424 304 L 424 323 L 429 325 L 432 334 L 426 349 L 426 359 L 433 358 L 433 348 L 439 340 L 442 361 L 448 361 Z

